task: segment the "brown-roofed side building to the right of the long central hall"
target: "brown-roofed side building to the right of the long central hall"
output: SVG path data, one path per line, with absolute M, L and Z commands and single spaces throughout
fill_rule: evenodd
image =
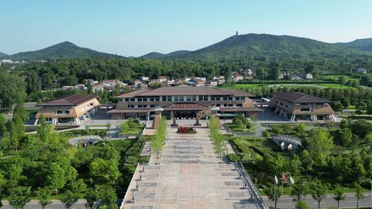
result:
M 269 107 L 271 111 L 277 115 L 282 115 L 290 121 L 334 121 L 334 111 L 329 103 L 329 100 L 316 96 L 289 92 L 273 94 Z

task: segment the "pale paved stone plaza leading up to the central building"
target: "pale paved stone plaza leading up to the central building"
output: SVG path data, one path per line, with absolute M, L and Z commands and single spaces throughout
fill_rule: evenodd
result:
M 160 164 L 138 167 L 123 208 L 259 208 L 234 166 L 216 157 L 205 126 L 191 135 L 176 130 L 168 126 Z

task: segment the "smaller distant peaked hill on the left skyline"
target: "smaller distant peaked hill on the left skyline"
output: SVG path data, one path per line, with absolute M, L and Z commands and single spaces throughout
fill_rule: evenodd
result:
M 60 58 L 94 58 L 94 57 L 107 57 L 107 58 L 119 58 L 114 54 L 107 54 L 103 52 L 97 52 L 87 48 L 79 47 L 65 41 L 50 47 L 46 47 L 42 50 L 32 52 L 20 52 L 8 56 L 14 61 L 39 61 L 39 60 L 54 60 Z

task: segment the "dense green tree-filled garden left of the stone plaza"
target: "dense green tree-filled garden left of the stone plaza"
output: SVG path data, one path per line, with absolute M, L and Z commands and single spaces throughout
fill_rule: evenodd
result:
M 25 111 L 16 109 L 7 124 L 0 120 L 0 197 L 13 208 L 23 208 L 30 199 L 48 205 L 50 199 L 63 203 L 87 199 L 90 207 L 101 199 L 101 207 L 117 208 L 151 137 L 132 140 L 104 140 L 90 146 L 71 146 L 70 137 L 105 135 L 107 129 L 56 132 L 39 118 L 36 134 L 24 133 Z

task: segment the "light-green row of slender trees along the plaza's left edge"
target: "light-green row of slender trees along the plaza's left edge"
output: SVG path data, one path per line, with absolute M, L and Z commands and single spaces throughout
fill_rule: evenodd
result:
M 166 136 L 167 136 L 167 119 L 165 117 L 162 117 L 158 125 L 158 129 L 156 129 L 155 134 L 151 140 L 151 149 L 152 149 L 152 153 L 154 153 L 156 156 L 156 163 L 158 163 L 158 159 L 161 155 L 161 151 L 163 151 Z

